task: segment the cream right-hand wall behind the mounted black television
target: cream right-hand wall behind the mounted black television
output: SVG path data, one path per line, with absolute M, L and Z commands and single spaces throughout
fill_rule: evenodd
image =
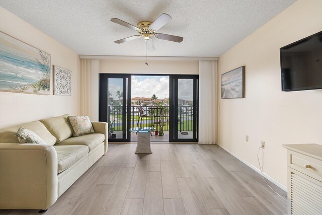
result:
M 322 144 L 322 90 L 282 92 L 279 48 L 322 30 L 322 1 L 299 0 L 219 58 L 218 144 L 287 186 L 283 144 Z M 246 66 L 246 98 L 220 99 L 221 74 Z M 249 142 L 245 136 L 249 135 Z

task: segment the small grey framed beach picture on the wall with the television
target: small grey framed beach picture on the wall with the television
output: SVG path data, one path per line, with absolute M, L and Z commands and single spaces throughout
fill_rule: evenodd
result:
M 221 75 L 221 98 L 245 98 L 245 66 Z

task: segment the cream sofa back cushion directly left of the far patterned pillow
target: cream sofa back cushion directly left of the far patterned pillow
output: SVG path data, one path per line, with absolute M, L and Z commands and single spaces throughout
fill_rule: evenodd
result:
M 56 142 L 61 142 L 72 136 L 70 126 L 67 122 L 68 115 L 69 114 L 65 114 L 62 116 L 41 119 L 39 121 L 46 126 L 54 137 L 56 137 Z

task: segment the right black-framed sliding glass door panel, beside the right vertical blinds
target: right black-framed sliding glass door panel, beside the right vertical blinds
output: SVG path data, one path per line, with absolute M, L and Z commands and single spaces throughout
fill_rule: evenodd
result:
M 198 141 L 198 76 L 170 76 L 170 142 Z

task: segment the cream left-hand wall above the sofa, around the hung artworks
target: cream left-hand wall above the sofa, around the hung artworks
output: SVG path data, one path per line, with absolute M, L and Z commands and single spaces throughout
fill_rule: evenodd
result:
M 0 31 L 49 53 L 51 65 L 58 65 L 72 72 L 72 96 L 54 96 L 52 78 L 50 95 L 0 92 L 0 127 L 65 113 L 79 114 L 78 54 L 2 7 L 0 7 Z

